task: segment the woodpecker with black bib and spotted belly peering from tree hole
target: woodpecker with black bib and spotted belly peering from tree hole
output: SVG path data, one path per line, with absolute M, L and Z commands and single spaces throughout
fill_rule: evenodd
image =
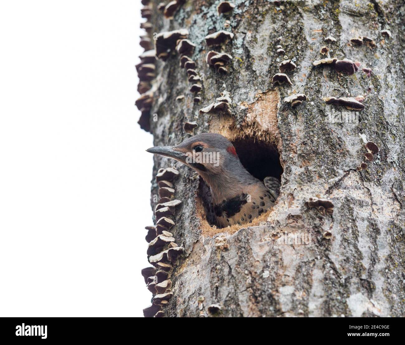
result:
M 173 158 L 194 169 L 211 189 L 218 226 L 252 223 L 269 211 L 280 193 L 280 180 L 260 181 L 242 165 L 232 143 L 217 133 L 201 133 L 175 146 L 155 146 L 147 152 Z

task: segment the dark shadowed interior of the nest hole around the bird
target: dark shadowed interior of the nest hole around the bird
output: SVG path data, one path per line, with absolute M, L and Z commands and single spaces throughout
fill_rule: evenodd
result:
M 280 164 L 280 154 L 276 144 L 269 144 L 257 140 L 254 137 L 247 137 L 232 141 L 238 154 L 239 160 L 247 171 L 260 181 L 265 177 L 272 176 L 281 179 L 283 168 Z M 205 215 L 208 223 L 217 225 L 212 205 L 211 191 L 207 183 L 200 179 L 198 188 L 199 196 L 203 201 Z

